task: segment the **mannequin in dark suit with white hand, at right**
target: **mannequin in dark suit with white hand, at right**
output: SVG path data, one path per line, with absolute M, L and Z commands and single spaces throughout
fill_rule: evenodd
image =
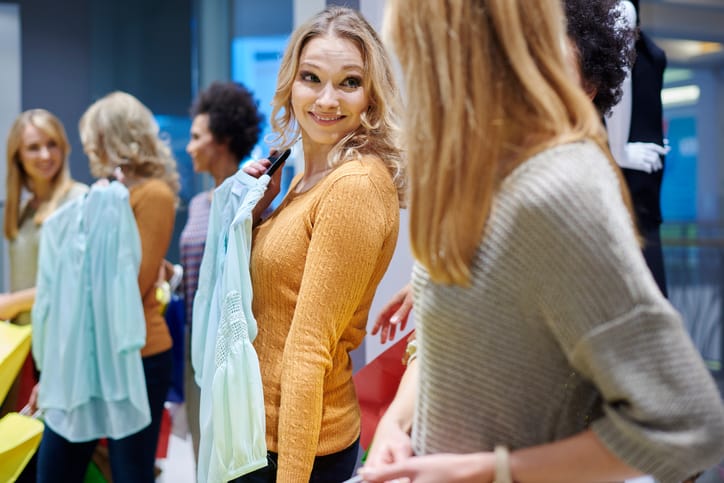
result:
M 638 25 L 639 2 L 633 0 L 631 3 Z M 607 119 L 611 151 L 628 184 L 638 227 L 645 240 L 644 257 L 664 295 L 667 294 L 666 275 L 659 228 L 662 221 L 661 181 L 664 156 L 668 152 L 664 145 L 661 104 L 665 68 L 664 51 L 640 31 L 630 81 L 624 82 L 623 99 Z

